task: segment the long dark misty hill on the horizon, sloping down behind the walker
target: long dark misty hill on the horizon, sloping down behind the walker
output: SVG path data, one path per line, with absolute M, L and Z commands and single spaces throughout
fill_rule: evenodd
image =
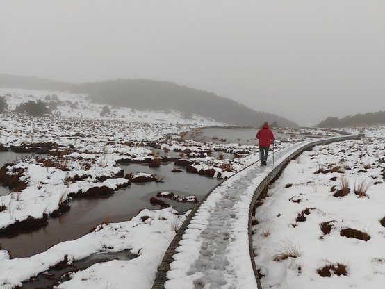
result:
M 211 92 L 166 81 L 118 79 L 76 85 L 48 79 L 0 74 L 0 87 L 68 90 L 88 94 L 92 101 L 99 104 L 125 106 L 136 110 L 179 110 L 185 113 L 186 117 L 190 114 L 202 115 L 218 122 L 239 126 L 260 126 L 265 121 L 277 122 L 279 126 L 298 126 L 284 117 L 256 112 L 243 104 Z

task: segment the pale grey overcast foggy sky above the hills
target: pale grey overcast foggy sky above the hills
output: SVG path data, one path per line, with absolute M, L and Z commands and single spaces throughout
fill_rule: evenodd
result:
M 311 126 L 385 110 L 385 1 L 0 0 L 0 73 L 172 81 Z

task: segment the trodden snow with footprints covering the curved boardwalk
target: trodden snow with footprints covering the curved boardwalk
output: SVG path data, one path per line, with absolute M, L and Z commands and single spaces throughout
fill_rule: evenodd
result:
M 275 153 L 275 165 L 270 156 L 268 166 L 254 163 L 218 185 L 182 230 L 181 240 L 172 254 L 174 261 L 170 263 L 170 270 L 167 268 L 167 281 L 163 280 L 164 287 L 155 282 L 153 288 L 258 288 L 249 251 L 249 209 L 256 188 L 301 147 L 340 139 L 345 138 L 293 145 Z

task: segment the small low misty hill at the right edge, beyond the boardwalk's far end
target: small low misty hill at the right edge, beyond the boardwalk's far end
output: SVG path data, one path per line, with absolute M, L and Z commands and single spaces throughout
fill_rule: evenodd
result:
M 346 127 L 346 126 L 371 126 L 375 124 L 385 124 L 385 111 L 376 113 L 365 113 L 357 115 L 348 115 L 339 119 L 338 117 L 327 117 L 316 126 L 318 127 Z

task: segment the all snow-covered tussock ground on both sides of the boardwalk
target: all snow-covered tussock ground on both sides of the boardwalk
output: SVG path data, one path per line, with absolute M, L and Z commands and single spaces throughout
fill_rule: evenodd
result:
M 157 147 L 165 151 L 181 151 L 183 158 L 193 161 L 197 170 L 213 169 L 215 176 L 221 172 L 222 177 L 231 176 L 259 158 L 255 145 L 182 140 L 180 136 L 190 129 L 224 125 L 199 116 L 185 119 L 178 112 L 138 112 L 112 107 L 110 115 L 100 116 L 103 105 L 91 104 L 85 95 L 1 89 L 0 96 L 5 94 L 9 95 L 6 101 L 10 109 L 28 100 L 24 97 L 35 100 L 46 99 L 49 95 L 52 99 L 57 95 L 63 104 L 58 106 L 56 116 L 0 113 L 2 145 L 57 144 L 52 149 L 57 152 L 56 156 L 23 158 L 8 167 L 8 173 L 19 174 L 19 179 L 27 186 L 0 197 L 0 206 L 3 206 L 0 228 L 16 220 L 25 220 L 28 215 L 41 217 L 43 213 L 51 213 L 60 202 L 70 200 L 71 192 L 101 186 L 115 189 L 124 185 L 127 179 L 119 176 L 117 160 L 156 158 L 151 149 L 143 146 L 146 142 L 156 142 Z M 290 134 L 298 131 L 290 131 Z M 305 133 L 314 135 L 319 131 Z M 382 176 L 385 128 L 373 127 L 365 129 L 364 133 L 366 138 L 361 140 L 306 151 L 286 167 L 270 188 L 269 197 L 257 210 L 255 218 L 259 224 L 253 228 L 256 264 L 264 275 L 264 288 L 313 288 L 313 284 L 314 288 L 321 288 L 320 284 L 326 283 L 331 288 L 383 288 L 385 233 L 379 220 L 385 217 Z M 302 140 L 280 140 L 276 148 L 284 149 Z M 249 153 L 231 160 L 211 156 L 211 151 L 222 150 L 231 154 L 237 150 Z M 330 164 L 341 165 L 344 173 L 314 174 L 320 168 L 326 170 Z M 352 189 L 354 182 L 365 178 L 373 184 L 364 197 L 357 197 L 354 192 L 334 197 L 330 190 L 334 185 L 338 187 L 342 174 L 350 179 Z M 75 181 L 76 175 L 88 177 Z M 101 176 L 105 177 L 104 181 L 98 181 Z M 336 176 L 335 181 L 331 180 L 333 176 Z M 284 188 L 289 183 L 291 186 Z M 306 215 L 307 210 L 304 213 L 306 221 L 296 222 L 298 213 L 301 215 L 306 208 L 309 208 L 309 214 Z M 0 287 L 22 286 L 22 281 L 63 260 L 71 264 L 100 251 L 129 249 L 139 256 L 130 261 L 97 263 L 73 272 L 71 280 L 61 282 L 57 288 L 151 288 L 163 254 L 187 215 L 179 216 L 172 208 L 142 210 L 133 220 L 101 224 L 83 238 L 60 243 L 30 258 L 10 258 L 7 251 L 0 250 Z M 204 222 L 204 215 L 201 218 Z M 323 236 L 319 224 L 329 221 L 333 221 L 331 233 Z M 339 231 L 347 226 L 367 232 L 370 240 L 339 236 Z M 297 245 L 301 256 L 272 261 L 272 256 L 279 253 L 277 245 L 281 240 Z M 232 252 L 236 254 L 236 250 Z M 347 276 L 319 276 L 316 270 L 327 262 L 347 265 Z

